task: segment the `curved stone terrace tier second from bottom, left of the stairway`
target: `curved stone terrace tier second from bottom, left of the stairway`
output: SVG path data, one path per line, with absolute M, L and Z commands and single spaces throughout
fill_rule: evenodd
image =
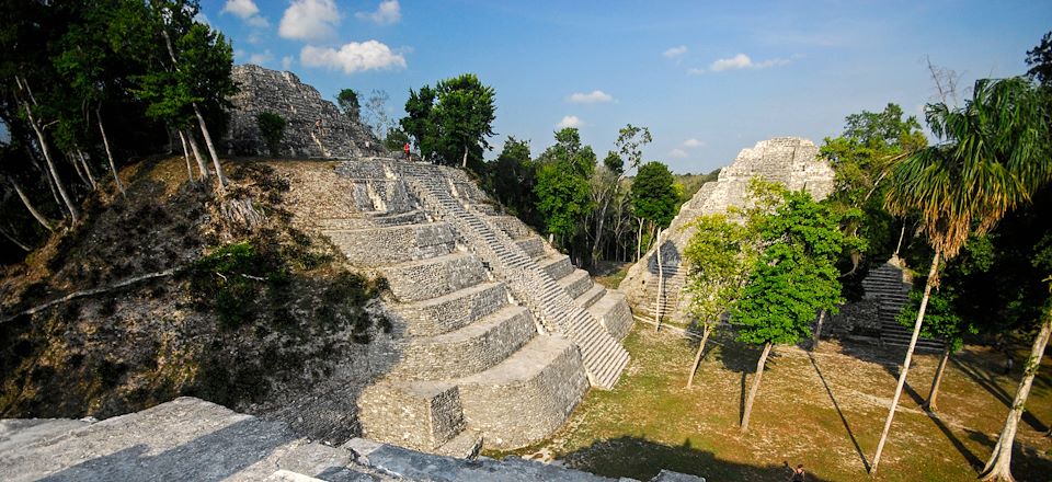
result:
M 460 330 L 410 338 L 393 374 L 405 380 L 466 377 L 503 362 L 536 335 L 529 311 L 506 306 Z

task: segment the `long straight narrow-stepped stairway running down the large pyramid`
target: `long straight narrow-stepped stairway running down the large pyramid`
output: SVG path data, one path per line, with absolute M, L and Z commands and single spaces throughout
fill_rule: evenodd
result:
M 515 242 L 484 215 L 465 208 L 450 195 L 450 185 L 438 167 L 405 162 L 399 163 L 399 169 L 424 206 L 466 238 L 471 250 L 489 269 L 506 280 L 512 296 L 529 308 L 548 333 L 564 335 L 581 349 L 592 386 L 613 388 L 628 364 L 628 352 L 574 301 L 567 290 L 570 285 L 559 285 L 534 262 L 533 257 L 544 252 L 542 242 L 539 239 Z M 539 250 L 531 249 L 530 244 Z

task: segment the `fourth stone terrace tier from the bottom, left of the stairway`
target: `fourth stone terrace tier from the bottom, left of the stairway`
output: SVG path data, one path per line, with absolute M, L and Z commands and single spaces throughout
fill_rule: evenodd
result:
M 478 256 L 462 252 L 385 266 L 381 271 L 391 292 L 401 301 L 437 298 L 487 279 Z

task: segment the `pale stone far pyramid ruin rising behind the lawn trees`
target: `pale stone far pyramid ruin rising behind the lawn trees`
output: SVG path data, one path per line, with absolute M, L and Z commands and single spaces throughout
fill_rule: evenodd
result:
M 687 300 L 681 296 L 686 280 L 682 253 L 694 230 L 684 227 L 698 216 L 724 213 L 731 206 L 744 207 L 753 177 L 780 182 L 790 190 L 805 188 L 817 199 L 833 192 L 833 169 L 817 159 L 817 153 L 814 142 L 799 137 L 776 137 L 742 149 L 734 162 L 720 171 L 718 181 L 702 185 L 679 208 L 660 244 L 651 248 L 621 282 L 618 289 L 637 307 L 637 314 L 651 320 L 661 317 L 687 321 Z

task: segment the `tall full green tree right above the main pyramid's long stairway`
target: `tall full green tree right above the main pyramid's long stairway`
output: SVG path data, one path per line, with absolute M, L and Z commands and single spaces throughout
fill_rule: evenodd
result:
M 571 248 L 580 238 L 582 220 L 593 209 L 588 179 L 595 171 L 595 152 L 581 145 L 578 129 L 567 127 L 556 133 L 556 144 L 537 158 L 537 210 L 546 230 Z

